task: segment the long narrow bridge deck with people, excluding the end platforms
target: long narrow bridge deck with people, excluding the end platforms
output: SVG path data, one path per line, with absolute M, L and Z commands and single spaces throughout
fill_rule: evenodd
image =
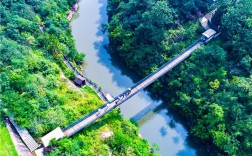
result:
M 69 125 L 65 130 L 63 131 L 66 136 L 72 136 L 78 131 L 82 130 L 84 127 L 90 125 L 109 111 L 113 110 L 120 104 L 122 104 L 124 101 L 131 98 L 133 95 L 138 93 L 140 90 L 146 88 L 148 85 L 150 85 L 152 82 L 157 80 L 159 77 L 170 71 L 172 68 L 174 68 L 176 65 L 178 65 L 180 62 L 185 60 L 195 49 L 200 47 L 202 44 L 201 41 L 196 41 L 191 46 L 186 48 L 184 51 L 180 52 L 176 57 L 159 67 L 155 72 L 151 73 L 150 75 L 146 76 L 144 79 L 140 80 L 138 83 L 136 83 L 134 86 L 130 88 L 130 90 L 124 91 L 122 94 L 115 97 L 114 100 L 102 105 L 101 107 L 97 108 L 93 112 L 89 113 L 87 116 L 77 120 L 76 122 Z

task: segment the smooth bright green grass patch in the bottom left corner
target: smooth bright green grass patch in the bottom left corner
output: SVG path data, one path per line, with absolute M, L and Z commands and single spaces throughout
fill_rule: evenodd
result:
M 17 156 L 17 151 L 11 140 L 8 129 L 0 120 L 0 156 Z

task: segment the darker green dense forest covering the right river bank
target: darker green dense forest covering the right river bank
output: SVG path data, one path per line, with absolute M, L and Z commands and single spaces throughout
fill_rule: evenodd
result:
M 111 53 L 141 77 L 204 32 L 198 19 L 218 8 L 218 39 L 149 87 L 187 121 L 211 155 L 252 155 L 252 1 L 109 0 Z

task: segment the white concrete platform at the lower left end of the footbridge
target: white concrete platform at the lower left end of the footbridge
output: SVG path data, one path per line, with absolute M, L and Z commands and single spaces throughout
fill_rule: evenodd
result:
M 52 139 L 58 140 L 58 139 L 61 139 L 63 137 L 64 137 L 64 133 L 62 132 L 60 127 L 57 127 L 56 129 L 54 129 L 50 133 L 43 136 L 41 138 L 41 142 L 44 145 L 44 147 L 47 147 Z

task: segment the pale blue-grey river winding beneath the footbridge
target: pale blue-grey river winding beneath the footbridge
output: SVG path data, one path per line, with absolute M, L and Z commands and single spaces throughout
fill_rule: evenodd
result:
M 107 0 L 81 0 L 80 7 L 71 22 L 72 34 L 79 52 L 84 52 L 84 74 L 112 96 L 131 87 L 139 78 L 128 70 L 122 61 L 111 57 L 105 50 L 107 34 L 101 32 L 101 24 L 107 23 Z M 202 155 L 201 148 L 188 139 L 188 132 L 175 116 L 170 114 L 161 100 L 153 99 L 147 91 L 141 91 L 120 106 L 124 118 L 137 121 L 140 134 L 159 146 L 162 156 Z

